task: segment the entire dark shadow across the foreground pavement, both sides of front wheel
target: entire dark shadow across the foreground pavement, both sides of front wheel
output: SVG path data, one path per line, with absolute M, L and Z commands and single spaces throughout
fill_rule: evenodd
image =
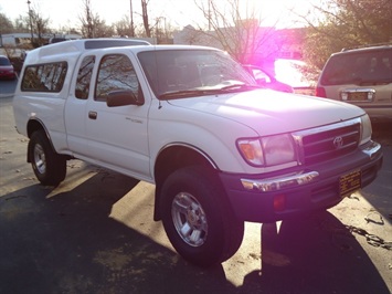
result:
M 389 293 L 329 212 L 285 221 L 278 233 L 262 225 L 263 262 L 236 287 L 223 266 L 195 267 L 110 217 L 137 180 L 100 169 L 65 189 L 73 180 L 0 197 L 0 293 Z M 130 218 L 146 207 L 130 204 Z M 135 223 L 147 222 L 152 216 Z

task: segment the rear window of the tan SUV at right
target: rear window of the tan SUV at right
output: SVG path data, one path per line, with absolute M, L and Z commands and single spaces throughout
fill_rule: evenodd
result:
M 324 71 L 324 85 L 392 83 L 392 50 L 335 55 Z

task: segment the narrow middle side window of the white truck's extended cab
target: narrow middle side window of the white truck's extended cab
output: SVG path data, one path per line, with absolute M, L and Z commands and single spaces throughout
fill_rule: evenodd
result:
M 95 64 L 95 56 L 86 56 L 81 63 L 77 72 L 75 97 L 86 99 L 88 97 L 89 84 L 92 81 L 93 69 Z

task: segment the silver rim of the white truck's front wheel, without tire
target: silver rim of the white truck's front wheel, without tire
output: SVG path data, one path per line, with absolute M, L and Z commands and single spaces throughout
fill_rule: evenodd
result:
M 206 216 L 193 196 L 178 193 L 171 206 L 171 217 L 177 232 L 188 245 L 204 244 L 208 235 Z

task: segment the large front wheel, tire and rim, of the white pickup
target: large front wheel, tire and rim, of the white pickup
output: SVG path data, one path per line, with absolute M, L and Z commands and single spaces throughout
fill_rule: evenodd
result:
M 244 222 L 234 217 L 213 179 L 200 167 L 177 170 L 165 181 L 159 202 L 171 244 L 183 259 L 202 267 L 230 259 L 244 235 Z

